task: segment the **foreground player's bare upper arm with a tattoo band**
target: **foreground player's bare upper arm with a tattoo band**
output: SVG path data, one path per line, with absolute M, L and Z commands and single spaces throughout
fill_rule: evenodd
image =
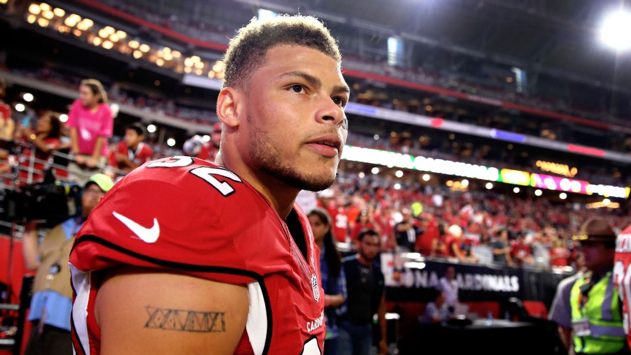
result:
M 248 304 L 245 286 L 118 268 L 95 301 L 100 354 L 233 354 Z

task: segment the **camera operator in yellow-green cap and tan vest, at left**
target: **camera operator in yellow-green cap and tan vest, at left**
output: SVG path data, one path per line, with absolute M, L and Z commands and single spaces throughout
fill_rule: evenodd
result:
M 70 314 L 73 290 L 69 282 L 68 257 L 74 236 L 112 186 L 114 182 L 105 174 L 91 176 L 83 188 L 81 215 L 50 229 L 41 243 L 38 243 L 35 224 L 27 224 L 23 237 L 24 260 L 27 268 L 37 270 L 37 274 L 28 315 L 33 328 L 26 355 L 72 354 Z

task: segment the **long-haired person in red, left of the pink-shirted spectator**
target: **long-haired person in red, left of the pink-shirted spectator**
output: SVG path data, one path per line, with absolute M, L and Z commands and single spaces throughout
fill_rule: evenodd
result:
M 52 151 L 59 147 L 61 138 L 61 121 L 54 112 L 45 112 L 37 119 L 35 130 L 21 127 L 16 131 L 15 138 L 23 143 L 30 143 L 21 147 L 18 154 L 20 162 L 20 184 L 39 183 L 44 179 L 44 170 L 49 166 Z M 33 161 L 32 174 L 30 165 L 33 148 L 35 148 L 35 160 Z

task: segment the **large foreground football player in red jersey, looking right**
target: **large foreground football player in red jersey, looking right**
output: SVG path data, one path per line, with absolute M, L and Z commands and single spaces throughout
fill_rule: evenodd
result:
M 349 95 L 340 63 L 309 16 L 239 30 L 216 162 L 143 164 L 76 239 L 78 354 L 322 354 L 319 254 L 295 198 L 335 179 Z

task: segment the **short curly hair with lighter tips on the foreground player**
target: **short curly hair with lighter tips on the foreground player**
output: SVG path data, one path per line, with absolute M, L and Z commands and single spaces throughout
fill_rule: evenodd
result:
M 265 63 L 268 49 L 278 44 L 304 45 L 341 63 L 338 41 L 314 16 L 278 15 L 259 21 L 256 17 L 237 31 L 223 57 L 222 87 L 242 87 L 251 73 Z

